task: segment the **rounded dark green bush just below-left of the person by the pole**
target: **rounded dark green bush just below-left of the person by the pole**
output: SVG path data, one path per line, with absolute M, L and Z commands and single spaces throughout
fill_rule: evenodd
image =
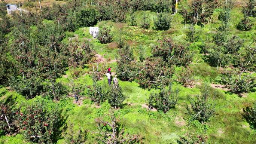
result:
M 157 30 L 168 30 L 171 27 L 171 20 L 166 13 L 159 13 L 155 21 Z

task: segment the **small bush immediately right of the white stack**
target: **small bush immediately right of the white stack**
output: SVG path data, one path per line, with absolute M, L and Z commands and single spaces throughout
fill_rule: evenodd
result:
M 110 28 L 109 27 L 100 28 L 99 35 L 98 35 L 98 40 L 101 43 L 110 43 L 110 42 L 112 42 L 112 34 L 110 33 Z

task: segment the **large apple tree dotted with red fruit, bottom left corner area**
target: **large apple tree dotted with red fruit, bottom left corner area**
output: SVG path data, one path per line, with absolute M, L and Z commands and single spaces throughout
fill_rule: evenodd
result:
M 41 100 L 19 111 L 15 125 L 27 141 L 52 144 L 58 132 L 60 120 L 58 108 L 48 108 Z

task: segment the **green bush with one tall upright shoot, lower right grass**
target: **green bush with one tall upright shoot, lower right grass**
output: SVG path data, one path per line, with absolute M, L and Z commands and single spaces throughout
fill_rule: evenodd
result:
M 199 122 L 207 122 L 215 112 L 215 104 L 211 104 L 208 100 L 210 96 L 210 86 L 205 85 L 202 95 L 196 95 L 190 102 L 191 106 L 187 105 L 190 120 L 199 120 Z

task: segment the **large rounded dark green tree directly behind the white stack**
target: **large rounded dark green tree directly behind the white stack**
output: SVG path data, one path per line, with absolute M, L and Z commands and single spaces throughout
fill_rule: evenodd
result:
M 77 24 L 79 27 L 94 26 L 98 22 L 99 12 L 92 7 L 81 9 L 76 13 Z

